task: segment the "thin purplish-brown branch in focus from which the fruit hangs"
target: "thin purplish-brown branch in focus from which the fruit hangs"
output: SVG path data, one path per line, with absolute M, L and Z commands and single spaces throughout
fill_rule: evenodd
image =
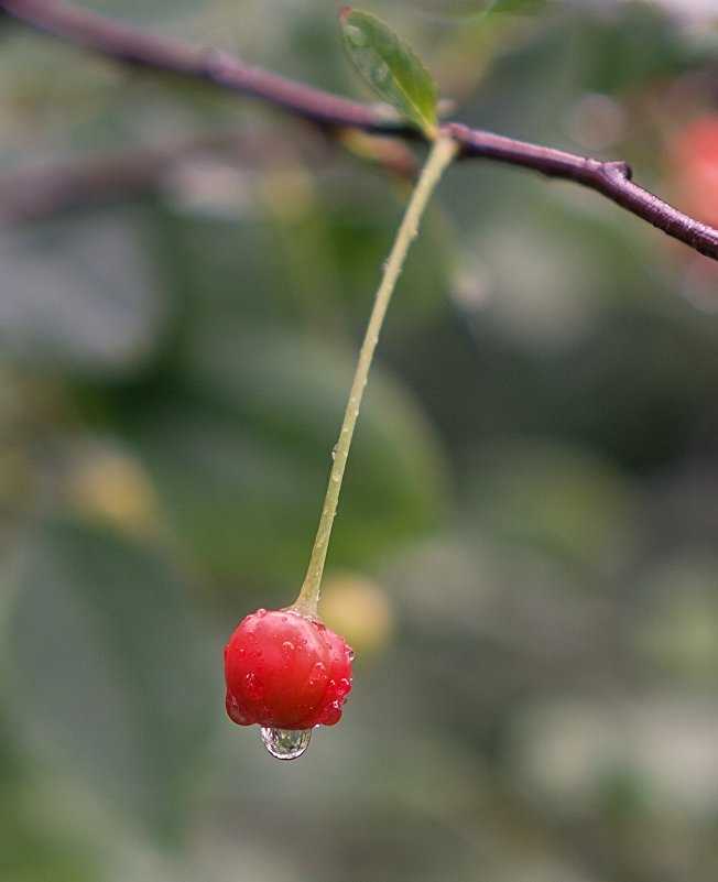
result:
M 366 105 L 247 65 L 226 52 L 199 50 L 149 34 L 129 24 L 76 9 L 61 0 L 0 0 L 0 12 L 62 40 L 126 64 L 205 80 L 253 96 L 322 127 L 362 129 L 376 134 L 421 139 L 410 127 Z M 718 260 L 718 230 L 684 215 L 631 181 L 623 162 L 600 162 L 503 135 L 444 126 L 461 145 L 461 155 L 477 156 L 573 181 L 596 190 L 706 257 Z

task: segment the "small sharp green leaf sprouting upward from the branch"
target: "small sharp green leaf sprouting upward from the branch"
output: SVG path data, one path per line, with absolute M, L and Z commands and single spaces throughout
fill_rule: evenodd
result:
M 340 21 L 357 70 L 382 100 L 433 139 L 438 88 L 414 51 L 368 12 L 345 8 Z

